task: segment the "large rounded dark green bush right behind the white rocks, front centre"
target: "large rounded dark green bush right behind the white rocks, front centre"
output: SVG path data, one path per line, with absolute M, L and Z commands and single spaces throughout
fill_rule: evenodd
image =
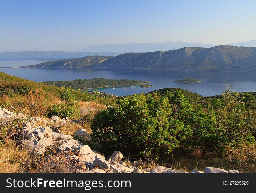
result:
M 97 113 L 92 138 L 111 152 L 156 158 L 177 148 L 183 138 L 183 124 L 169 117 L 171 112 L 167 98 L 135 94 Z

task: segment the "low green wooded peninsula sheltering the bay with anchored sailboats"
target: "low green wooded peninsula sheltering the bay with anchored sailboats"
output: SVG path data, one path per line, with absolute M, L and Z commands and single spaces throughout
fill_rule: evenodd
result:
M 74 90 L 81 88 L 100 88 L 100 87 L 109 87 L 112 85 L 115 86 L 128 86 L 128 85 L 141 85 L 149 83 L 148 81 L 137 81 L 137 80 L 114 80 L 114 79 L 77 79 L 73 81 L 48 81 L 44 82 L 47 85 L 55 85 L 57 87 L 65 86 L 71 87 Z

